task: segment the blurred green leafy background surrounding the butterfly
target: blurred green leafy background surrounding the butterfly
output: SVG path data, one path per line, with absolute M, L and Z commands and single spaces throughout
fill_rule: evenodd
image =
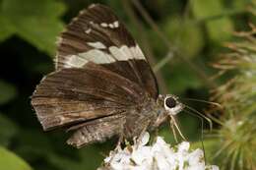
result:
M 125 6 L 127 3 L 123 2 L 132 4 L 129 0 L 0 0 L 0 170 L 96 169 L 103 155 L 115 146 L 116 141 L 113 140 L 75 149 L 65 143 L 69 135 L 42 132 L 32 111 L 30 96 L 40 79 L 53 71 L 56 37 L 80 10 L 91 3 L 104 3 L 115 11 L 138 39 L 145 53 L 152 54 L 152 66 L 167 56 L 168 46 L 156 29 L 150 27 L 140 11 L 131 5 L 130 10 L 139 22 L 135 25 L 135 19 L 128 14 L 129 8 Z M 160 81 L 160 90 L 208 100 L 209 89 L 221 85 L 222 81 L 210 80 L 215 74 L 210 63 L 218 53 L 225 51 L 225 41 L 235 40 L 232 36 L 234 30 L 247 29 L 249 22 L 255 22 L 252 13 L 256 14 L 256 2 L 140 2 L 177 51 L 160 68 L 158 79 L 163 80 Z M 144 31 L 140 31 L 142 29 Z M 198 110 L 206 107 L 193 102 L 187 104 Z M 199 119 L 182 113 L 179 122 L 190 141 L 200 141 L 202 130 Z M 160 135 L 174 142 L 168 126 L 161 129 Z M 206 145 L 213 145 L 213 141 L 206 142 Z M 211 149 L 211 146 L 208 148 Z

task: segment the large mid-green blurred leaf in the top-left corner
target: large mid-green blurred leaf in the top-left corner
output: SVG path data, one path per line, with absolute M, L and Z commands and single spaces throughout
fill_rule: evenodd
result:
M 54 0 L 3 0 L 1 14 L 7 27 L 0 31 L 0 37 L 5 39 L 16 32 L 39 50 L 52 55 L 56 36 L 64 26 L 60 21 L 64 12 L 64 4 Z

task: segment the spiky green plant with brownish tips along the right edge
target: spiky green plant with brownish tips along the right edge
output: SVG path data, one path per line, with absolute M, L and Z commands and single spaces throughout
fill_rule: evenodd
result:
M 212 145 L 218 151 L 212 151 L 211 159 L 220 162 L 222 169 L 256 168 L 256 27 L 253 24 L 250 27 L 251 30 L 235 33 L 239 38 L 225 44 L 230 51 L 214 64 L 223 77 L 235 73 L 212 95 L 213 100 L 224 106 L 218 119 L 216 111 L 210 114 L 221 126 L 215 133 L 219 138 Z

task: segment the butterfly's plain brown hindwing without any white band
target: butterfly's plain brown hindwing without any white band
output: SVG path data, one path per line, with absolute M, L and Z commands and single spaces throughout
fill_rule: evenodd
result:
M 143 102 L 139 85 L 99 65 L 54 72 L 37 85 L 32 106 L 44 130 L 125 112 Z

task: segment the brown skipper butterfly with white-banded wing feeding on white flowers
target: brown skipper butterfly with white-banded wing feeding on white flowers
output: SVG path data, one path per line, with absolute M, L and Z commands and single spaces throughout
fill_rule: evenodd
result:
M 44 131 L 73 132 L 67 142 L 76 147 L 138 137 L 184 107 L 159 94 L 141 48 L 104 5 L 81 11 L 61 33 L 55 66 L 36 86 L 32 107 Z

